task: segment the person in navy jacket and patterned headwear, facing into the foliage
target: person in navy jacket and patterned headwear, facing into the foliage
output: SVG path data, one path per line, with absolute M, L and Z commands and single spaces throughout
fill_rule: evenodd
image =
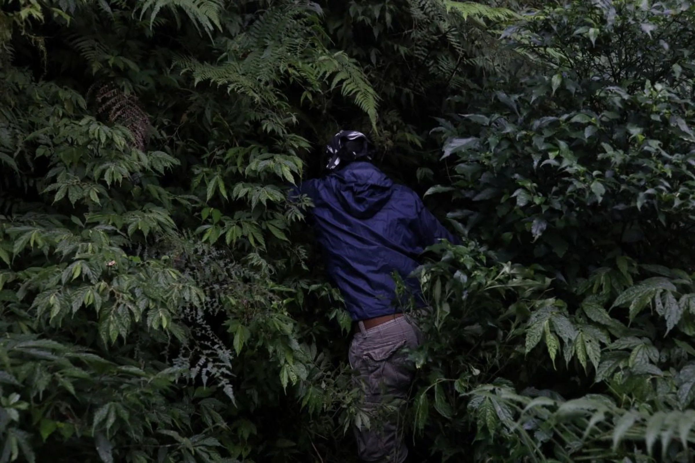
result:
M 365 393 L 362 409 L 368 414 L 397 410 L 371 416 L 369 428 L 356 428 L 358 453 L 365 462 L 402 463 L 408 451 L 400 414 L 415 373 L 402 348 L 416 348 L 422 335 L 402 311 L 393 273 L 423 303 L 418 280 L 411 276 L 420 265 L 418 257 L 440 239 L 459 240 L 415 192 L 393 183 L 370 162 L 363 133 L 337 133 L 326 152 L 329 174 L 307 180 L 295 194 L 313 201 L 309 219 L 328 276 L 354 321 L 348 358 Z M 380 403 L 391 407 L 378 407 Z

